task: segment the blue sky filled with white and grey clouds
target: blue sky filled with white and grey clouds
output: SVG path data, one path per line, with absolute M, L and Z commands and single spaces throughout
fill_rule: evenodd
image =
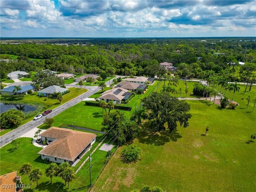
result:
M 256 36 L 256 0 L 0 0 L 1 37 Z

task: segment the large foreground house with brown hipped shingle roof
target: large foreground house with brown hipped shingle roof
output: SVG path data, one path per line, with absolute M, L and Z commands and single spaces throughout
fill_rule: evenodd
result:
M 42 141 L 48 141 L 48 146 L 38 152 L 42 159 L 73 164 L 96 141 L 97 135 L 67 128 L 51 127 L 39 136 Z

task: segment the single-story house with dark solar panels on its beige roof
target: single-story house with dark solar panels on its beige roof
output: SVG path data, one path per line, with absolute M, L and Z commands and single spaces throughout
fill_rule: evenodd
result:
M 101 94 L 99 99 L 104 100 L 106 102 L 110 102 L 111 100 L 114 104 L 121 104 L 121 101 L 125 101 L 132 95 L 132 92 L 129 92 L 126 89 L 121 87 L 117 87 L 108 91 L 105 91 Z

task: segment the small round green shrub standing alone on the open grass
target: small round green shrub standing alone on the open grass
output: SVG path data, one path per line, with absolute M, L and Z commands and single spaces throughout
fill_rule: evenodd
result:
M 141 156 L 141 149 L 136 145 L 127 145 L 121 153 L 121 158 L 125 162 L 136 162 Z

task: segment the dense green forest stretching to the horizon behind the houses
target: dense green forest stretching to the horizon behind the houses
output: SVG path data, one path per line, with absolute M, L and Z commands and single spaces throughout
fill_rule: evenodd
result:
M 40 43 L 39 43 L 40 42 Z M 1 79 L 15 70 L 77 74 L 96 73 L 154 76 L 159 63 L 170 62 L 180 76 L 200 77 L 203 71 L 222 70 L 246 76 L 256 70 L 256 42 L 253 38 L 112 38 L 59 40 L 4 40 L 0 44 Z M 15 59 L 14 59 L 15 57 Z M 238 62 L 244 62 L 239 67 Z M 236 67 L 238 66 L 238 67 Z M 183 75 L 182 75 L 183 73 Z M 185 74 L 185 75 L 184 75 Z M 238 76 L 233 76 L 236 81 Z

